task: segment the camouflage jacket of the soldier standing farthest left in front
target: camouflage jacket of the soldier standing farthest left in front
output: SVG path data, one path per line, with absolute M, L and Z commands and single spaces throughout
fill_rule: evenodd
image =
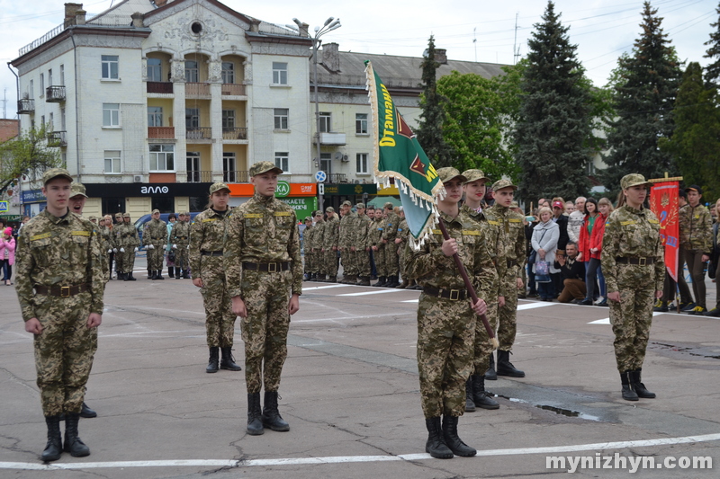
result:
M 25 223 L 18 236 L 15 281 L 23 321 L 38 317 L 36 307 L 45 296 L 35 295 L 35 286 L 90 287 L 90 312 L 103 314 L 103 252 L 90 221 L 69 212 L 55 217 L 42 211 Z

